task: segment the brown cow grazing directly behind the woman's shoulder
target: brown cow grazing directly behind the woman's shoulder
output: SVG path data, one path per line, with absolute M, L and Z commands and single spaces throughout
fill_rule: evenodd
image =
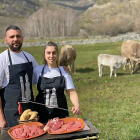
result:
M 68 66 L 70 71 L 76 73 L 74 61 L 76 59 L 76 51 L 70 45 L 65 45 L 61 48 L 61 55 L 59 58 L 60 66 Z

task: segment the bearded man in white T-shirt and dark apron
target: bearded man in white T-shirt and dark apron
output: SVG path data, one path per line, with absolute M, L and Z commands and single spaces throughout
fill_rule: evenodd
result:
M 0 54 L 0 128 L 17 125 L 21 97 L 34 100 L 32 74 L 38 66 L 31 54 L 21 50 L 23 36 L 17 26 L 6 29 L 5 42 L 9 48 Z

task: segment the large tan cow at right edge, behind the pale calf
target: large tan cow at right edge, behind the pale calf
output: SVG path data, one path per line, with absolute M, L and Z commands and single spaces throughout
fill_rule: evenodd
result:
M 140 43 L 133 40 L 123 42 L 121 47 L 121 55 L 122 57 L 129 58 L 129 69 L 131 68 L 132 74 L 135 73 L 135 64 L 138 63 L 140 66 Z M 124 65 L 123 69 L 126 70 L 126 65 Z

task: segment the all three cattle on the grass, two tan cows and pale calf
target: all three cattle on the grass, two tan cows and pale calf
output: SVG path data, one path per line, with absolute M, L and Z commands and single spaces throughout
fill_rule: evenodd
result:
M 60 66 L 68 66 L 71 72 L 75 72 L 74 61 L 76 59 L 76 51 L 70 45 L 65 45 L 61 48 L 61 55 L 59 59 Z M 140 43 L 133 40 L 127 40 L 122 43 L 121 56 L 110 54 L 99 54 L 98 57 L 98 71 L 99 77 L 103 76 L 104 66 L 110 67 L 110 77 L 117 77 L 117 68 L 124 65 L 123 70 L 126 70 L 126 65 L 129 64 L 129 69 L 134 74 L 140 68 Z M 135 65 L 138 68 L 135 69 Z

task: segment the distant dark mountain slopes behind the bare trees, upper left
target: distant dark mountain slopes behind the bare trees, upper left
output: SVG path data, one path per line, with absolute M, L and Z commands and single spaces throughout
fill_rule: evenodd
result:
M 17 25 L 23 30 L 31 15 L 36 15 L 41 9 L 56 11 L 59 9 L 73 9 L 82 14 L 92 7 L 96 0 L 0 0 L 0 38 L 3 38 L 5 29 Z M 26 27 L 26 26 L 25 26 Z M 26 29 L 24 29 L 26 30 Z

